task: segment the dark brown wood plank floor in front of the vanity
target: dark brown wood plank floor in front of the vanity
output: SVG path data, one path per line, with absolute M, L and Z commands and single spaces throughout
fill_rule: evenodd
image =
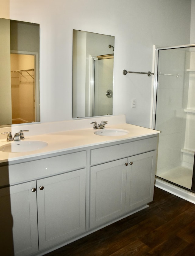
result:
M 195 255 L 195 204 L 155 187 L 150 207 L 46 255 Z

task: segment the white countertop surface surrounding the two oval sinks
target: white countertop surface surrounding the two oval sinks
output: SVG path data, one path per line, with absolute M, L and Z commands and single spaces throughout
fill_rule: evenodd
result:
M 80 149 L 83 147 L 100 145 L 108 142 L 123 141 L 126 139 L 133 139 L 159 133 L 159 131 L 156 130 L 126 123 L 114 125 L 106 124 L 106 129 L 123 129 L 127 130 L 129 133 L 122 136 L 100 136 L 94 134 L 94 132 L 97 130 L 93 130 L 92 127 L 78 130 L 66 130 L 63 132 L 50 132 L 33 136 L 28 136 L 28 133 L 25 133 L 25 139 L 23 141 L 44 141 L 48 143 L 48 146 L 39 150 L 28 152 L 8 153 L 0 151 L 0 163 L 21 160 L 24 158 L 26 159 L 38 157 L 67 150 Z M 23 141 L 21 141 L 21 143 Z M 0 147 L 6 145 L 7 143 L 17 142 L 7 142 L 5 136 L 5 139 L 0 140 Z

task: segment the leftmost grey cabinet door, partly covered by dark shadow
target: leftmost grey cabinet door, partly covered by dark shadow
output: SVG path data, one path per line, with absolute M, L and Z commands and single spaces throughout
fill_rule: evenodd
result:
M 36 181 L 0 189 L 0 253 L 29 255 L 38 251 Z

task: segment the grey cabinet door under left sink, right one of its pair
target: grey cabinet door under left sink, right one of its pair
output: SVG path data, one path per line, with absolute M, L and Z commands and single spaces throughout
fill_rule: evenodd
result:
M 37 180 L 40 250 L 85 231 L 85 186 L 86 169 Z

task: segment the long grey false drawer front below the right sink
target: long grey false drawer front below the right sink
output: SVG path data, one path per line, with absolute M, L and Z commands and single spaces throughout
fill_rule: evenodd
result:
M 91 150 L 91 165 L 157 149 L 157 137 Z

